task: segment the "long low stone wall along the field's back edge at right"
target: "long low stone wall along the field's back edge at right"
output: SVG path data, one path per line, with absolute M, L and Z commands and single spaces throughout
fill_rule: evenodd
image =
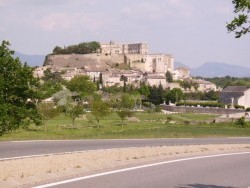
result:
M 188 106 L 169 106 L 161 105 L 163 110 L 177 113 L 204 113 L 204 114 L 234 114 L 245 112 L 242 109 L 225 109 L 225 108 L 204 108 L 204 107 L 188 107 Z

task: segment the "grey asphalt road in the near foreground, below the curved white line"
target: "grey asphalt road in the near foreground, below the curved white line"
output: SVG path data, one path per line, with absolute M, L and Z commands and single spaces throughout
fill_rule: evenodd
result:
M 175 161 L 87 178 L 58 188 L 248 188 L 250 153 Z

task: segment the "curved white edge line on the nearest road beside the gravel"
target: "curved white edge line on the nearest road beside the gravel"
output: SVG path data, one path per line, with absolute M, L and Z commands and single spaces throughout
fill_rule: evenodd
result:
M 135 167 L 130 167 L 130 168 L 124 168 L 124 169 L 120 169 L 120 170 L 113 170 L 113 171 L 103 172 L 103 173 L 98 173 L 98 174 L 93 174 L 93 175 L 89 175 L 89 176 L 83 176 L 83 177 L 79 177 L 79 178 L 73 178 L 73 179 L 59 181 L 59 182 L 55 182 L 55 183 L 49 183 L 49 184 L 45 184 L 45 185 L 40 185 L 40 186 L 36 186 L 36 187 L 33 187 L 33 188 L 47 188 L 47 187 L 57 186 L 57 185 L 71 183 L 71 182 L 75 182 L 75 181 L 80 181 L 80 180 L 85 180 L 85 179 L 91 179 L 91 178 L 96 178 L 96 177 L 100 177 L 100 176 L 106 176 L 106 175 L 110 175 L 110 174 L 116 174 L 116 173 L 120 173 L 120 172 L 126 172 L 126 171 L 141 169 L 141 168 L 148 168 L 148 167 L 153 167 L 153 166 L 159 166 L 159 165 L 164 165 L 164 164 L 169 164 L 169 163 L 176 163 L 176 162 L 189 161 L 189 160 L 195 160 L 195 159 L 213 158 L 213 157 L 244 155 L 244 154 L 250 154 L 250 152 L 227 153 L 227 154 L 218 154 L 218 155 L 207 155 L 207 156 L 199 156 L 199 157 L 177 159 L 177 160 L 172 160 L 172 161 L 164 161 L 164 162 L 158 162 L 158 163 L 152 163 L 152 164 L 147 164 L 147 165 L 135 166 Z

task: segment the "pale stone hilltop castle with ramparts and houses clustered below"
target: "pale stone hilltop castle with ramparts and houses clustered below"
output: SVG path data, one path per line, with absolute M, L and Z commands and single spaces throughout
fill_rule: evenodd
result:
M 169 54 L 150 54 L 148 43 L 120 44 L 111 41 L 101 43 L 100 49 L 91 54 L 48 55 L 43 67 L 38 67 L 34 74 L 42 77 L 44 70 L 62 72 L 62 78 L 72 79 L 77 75 L 88 75 L 93 80 L 102 75 L 103 86 L 122 86 L 127 84 L 138 87 L 141 82 L 163 88 L 180 87 L 179 83 L 168 83 L 165 74 L 169 71 L 175 80 L 189 79 L 189 69 L 174 70 L 174 57 Z M 118 68 L 127 66 L 127 70 Z M 207 85 L 207 84 L 206 84 Z M 206 90 L 206 89 L 205 89 Z

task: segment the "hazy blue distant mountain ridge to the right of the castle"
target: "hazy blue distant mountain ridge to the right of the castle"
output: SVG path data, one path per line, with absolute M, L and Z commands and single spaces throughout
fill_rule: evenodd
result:
M 183 63 L 175 62 L 175 67 L 180 66 L 188 67 Z M 250 68 L 227 63 L 206 62 L 197 68 L 190 68 L 190 75 L 207 78 L 223 76 L 250 77 Z

